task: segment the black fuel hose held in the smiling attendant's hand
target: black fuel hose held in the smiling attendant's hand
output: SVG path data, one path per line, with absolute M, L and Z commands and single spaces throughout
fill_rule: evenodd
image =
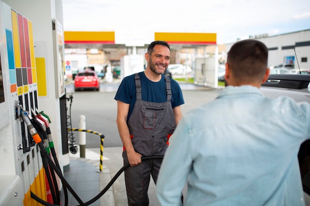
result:
M 163 155 L 155 155 L 155 156 L 147 156 L 147 157 L 142 157 L 141 160 L 145 161 L 145 160 L 155 160 L 155 159 L 163 159 Z M 90 201 L 84 203 L 84 205 L 78 205 L 78 206 L 89 206 L 91 204 L 93 204 L 94 202 L 96 202 L 97 200 L 99 200 L 104 193 L 106 193 L 106 191 L 112 186 L 112 184 L 116 181 L 116 179 L 119 177 L 119 175 L 121 175 L 121 173 L 128 167 L 130 166 L 129 163 L 127 163 L 126 165 L 124 165 L 122 168 L 120 168 L 118 170 L 118 172 L 114 175 L 114 177 L 111 179 L 111 181 L 105 186 L 105 188 L 93 199 L 91 199 Z M 58 173 L 57 173 L 58 174 Z M 69 190 L 71 192 L 71 190 Z M 74 191 L 73 191 L 74 192 Z M 57 205 L 53 205 L 51 203 L 45 202 L 44 200 L 40 199 L 38 196 L 36 196 L 33 192 L 31 192 L 31 198 L 35 199 L 38 203 L 45 205 L 45 206 L 57 206 Z M 75 192 L 74 192 L 75 193 Z M 73 194 L 72 194 L 73 195 Z M 80 203 L 81 204 L 81 203 Z

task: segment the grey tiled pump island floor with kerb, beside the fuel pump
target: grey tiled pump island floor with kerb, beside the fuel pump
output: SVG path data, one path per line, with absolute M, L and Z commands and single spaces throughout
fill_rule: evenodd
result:
M 100 149 L 98 149 L 97 153 L 86 149 L 85 155 L 86 158 L 79 157 L 79 147 L 77 154 L 69 154 L 70 169 L 64 172 L 64 178 L 84 204 L 91 201 L 93 202 L 90 204 L 91 206 L 116 206 L 113 185 L 106 188 L 111 181 L 111 173 L 105 165 L 102 165 L 102 171 L 100 171 Z M 104 158 L 104 160 L 106 159 Z M 97 197 L 104 189 L 106 189 L 106 192 Z M 69 190 L 67 192 L 68 206 L 79 205 L 71 192 Z M 61 205 L 64 205 L 65 195 L 63 189 L 60 200 Z

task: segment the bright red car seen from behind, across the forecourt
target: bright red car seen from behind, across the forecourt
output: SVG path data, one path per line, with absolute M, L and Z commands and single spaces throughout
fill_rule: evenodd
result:
M 74 78 L 74 90 L 95 89 L 99 91 L 100 81 L 95 71 L 78 72 Z

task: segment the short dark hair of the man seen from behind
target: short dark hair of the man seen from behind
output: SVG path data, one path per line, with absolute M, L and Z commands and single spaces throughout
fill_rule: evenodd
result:
M 257 40 L 238 41 L 230 48 L 227 63 L 237 80 L 263 78 L 268 64 L 268 48 Z

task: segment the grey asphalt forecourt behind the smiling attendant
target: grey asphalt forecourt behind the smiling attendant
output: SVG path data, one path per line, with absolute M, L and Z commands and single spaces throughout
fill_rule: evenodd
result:
M 86 129 L 102 133 L 104 135 L 104 147 L 119 147 L 122 145 L 116 126 L 117 103 L 114 100 L 115 93 L 120 84 L 120 79 L 113 82 L 104 82 L 100 91 L 74 91 L 72 81 L 66 85 L 66 97 L 72 95 L 72 102 L 67 101 L 67 115 L 71 114 L 72 128 L 79 128 L 80 116 L 85 116 Z M 185 104 L 181 105 L 182 113 L 213 100 L 220 89 L 212 89 L 193 83 L 179 82 Z M 70 122 L 70 120 L 68 120 Z M 79 144 L 79 132 L 73 131 L 74 141 Z M 70 140 L 70 139 L 69 139 Z M 86 133 L 86 148 L 99 148 L 100 136 L 94 133 Z

